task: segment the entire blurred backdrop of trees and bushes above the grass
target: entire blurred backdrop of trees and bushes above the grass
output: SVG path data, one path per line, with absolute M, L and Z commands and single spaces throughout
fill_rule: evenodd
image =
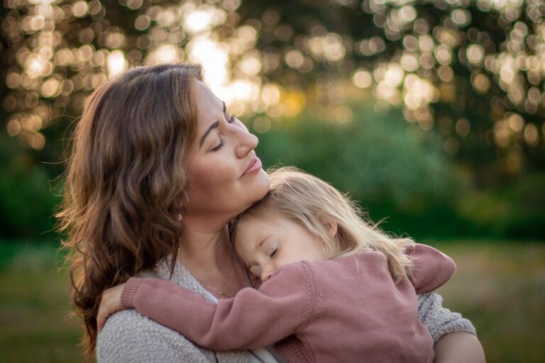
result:
M 543 238 L 540 0 L 4 0 L 0 232 L 40 238 L 70 125 L 128 67 L 200 62 L 297 164 L 416 237 Z M 16 211 L 14 211 L 16 210 Z M 21 212 L 20 212 L 21 211 Z M 23 212 L 24 211 L 24 212 Z

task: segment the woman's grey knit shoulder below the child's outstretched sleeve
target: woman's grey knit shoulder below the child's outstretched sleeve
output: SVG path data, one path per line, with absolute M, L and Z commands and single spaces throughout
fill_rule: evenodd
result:
M 97 339 L 97 361 L 109 362 L 215 362 L 214 352 L 136 310 L 111 315 Z

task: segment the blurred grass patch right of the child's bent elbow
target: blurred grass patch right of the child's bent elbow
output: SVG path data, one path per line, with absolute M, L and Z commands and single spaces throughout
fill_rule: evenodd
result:
M 444 306 L 473 322 L 488 362 L 545 362 L 545 244 L 435 246 L 458 267 Z

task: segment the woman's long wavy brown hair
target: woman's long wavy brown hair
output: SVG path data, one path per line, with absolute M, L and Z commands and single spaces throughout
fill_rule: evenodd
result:
M 102 291 L 177 252 L 197 79 L 199 65 L 130 69 L 94 91 L 75 129 L 57 218 L 87 357 Z

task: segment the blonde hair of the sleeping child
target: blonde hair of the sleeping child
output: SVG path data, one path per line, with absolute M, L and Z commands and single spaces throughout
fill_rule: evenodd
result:
M 360 251 L 382 252 L 397 283 L 411 267 L 405 248 L 409 238 L 390 238 L 376 224 L 366 221 L 360 207 L 330 184 L 295 167 L 269 170 L 270 191 L 231 223 L 231 236 L 245 216 L 275 211 L 304 226 L 324 242 L 331 257 L 349 256 Z M 331 228 L 336 223 L 336 233 Z M 334 230 L 334 229 L 333 229 Z

